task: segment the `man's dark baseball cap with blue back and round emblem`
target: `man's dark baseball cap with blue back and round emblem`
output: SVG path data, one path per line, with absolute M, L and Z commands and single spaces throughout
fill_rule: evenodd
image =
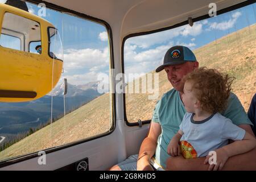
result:
M 156 68 L 155 71 L 160 72 L 166 66 L 183 64 L 187 61 L 196 61 L 196 56 L 191 49 L 185 46 L 174 46 L 166 52 L 166 55 L 164 55 L 163 64 Z

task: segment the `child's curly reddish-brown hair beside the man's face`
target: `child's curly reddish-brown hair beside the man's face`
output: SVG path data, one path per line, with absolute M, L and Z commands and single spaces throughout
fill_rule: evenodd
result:
M 201 109 L 209 113 L 221 112 L 226 109 L 235 77 L 229 77 L 216 69 L 196 68 L 183 77 L 184 82 L 192 83 L 192 90 L 200 102 Z

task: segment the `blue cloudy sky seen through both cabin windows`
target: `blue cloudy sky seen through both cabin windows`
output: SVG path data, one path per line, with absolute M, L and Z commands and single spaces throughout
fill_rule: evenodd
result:
M 3 0 L 0 0 L 3 2 Z M 38 6 L 27 3 L 30 13 Z M 183 45 L 197 49 L 256 22 L 256 5 L 249 5 L 209 19 L 155 34 L 129 38 L 125 42 L 125 73 L 142 75 L 162 64 L 167 49 Z M 100 73 L 109 72 L 109 48 L 106 28 L 75 16 L 46 10 L 44 19 L 51 22 L 63 37 L 64 73 L 68 82 L 82 85 L 97 81 Z

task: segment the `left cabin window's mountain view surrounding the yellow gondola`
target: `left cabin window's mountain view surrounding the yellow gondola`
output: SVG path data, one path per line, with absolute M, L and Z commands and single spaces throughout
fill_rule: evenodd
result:
M 38 6 L 26 3 L 31 12 L 38 13 Z M 27 43 L 24 49 L 37 53 L 35 48 L 41 39 L 36 35 L 40 34 L 27 36 L 37 32 L 27 26 L 35 22 L 9 16 L 12 18 L 8 19 L 9 23 L 3 23 L 4 27 L 20 32 L 21 44 Z M 108 89 L 98 90 L 101 82 L 98 75 L 109 77 L 111 67 L 105 25 L 51 9 L 42 18 L 55 27 L 45 30 L 50 35 L 47 52 L 55 57 L 53 63 L 63 61 L 62 77 L 67 78 L 68 92 L 63 96 L 64 83 L 60 78 L 52 92 L 38 100 L 0 103 L 0 162 L 32 153 L 38 156 L 39 151 L 84 142 L 109 134 L 113 129 L 112 94 Z M 5 39 L 1 35 L 1 41 Z

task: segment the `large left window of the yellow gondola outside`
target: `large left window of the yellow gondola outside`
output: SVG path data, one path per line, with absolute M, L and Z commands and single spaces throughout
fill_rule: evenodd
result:
M 12 13 L 3 16 L 1 46 L 19 51 L 30 51 L 30 42 L 40 42 L 40 24 Z

